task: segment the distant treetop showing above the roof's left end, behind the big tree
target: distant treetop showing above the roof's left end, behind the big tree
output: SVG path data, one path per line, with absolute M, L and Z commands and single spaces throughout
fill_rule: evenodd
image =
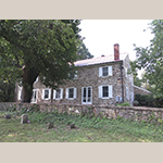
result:
M 79 46 L 77 47 L 78 60 L 91 59 L 93 55 L 88 51 L 83 40 L 80 40 Z

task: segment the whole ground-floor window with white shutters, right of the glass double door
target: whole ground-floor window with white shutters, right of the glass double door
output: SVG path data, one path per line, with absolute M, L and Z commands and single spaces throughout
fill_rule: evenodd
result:
M 99 98 L 101 99 L 109 99 L 112 98 L 112 86 L 99 86 Z

